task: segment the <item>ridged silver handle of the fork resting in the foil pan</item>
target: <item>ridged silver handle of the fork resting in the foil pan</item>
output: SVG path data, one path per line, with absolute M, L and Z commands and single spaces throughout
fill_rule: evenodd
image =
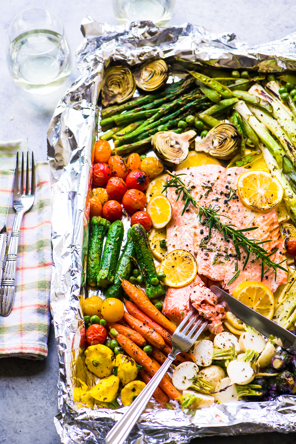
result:
M 166 361 L 162 364 L 158 372 L 149 381 L 142 392 L 136 397 L 133 403 L 130 405 L 128 410 L 122 415 L 121 419 L 114 425 L 110 432 L 106 436 L 106 444 L 120 444 L 123 443 L 127 436 L 129 436 L 131 429 L 138 420 L 142 411 L 145 409 L 147 402 L 153 395 L 154 390 L 164 377 L 167 369 L 170 367 L 171 363 L 174 361 L 178 350 L 172 351 L 166 358 Z

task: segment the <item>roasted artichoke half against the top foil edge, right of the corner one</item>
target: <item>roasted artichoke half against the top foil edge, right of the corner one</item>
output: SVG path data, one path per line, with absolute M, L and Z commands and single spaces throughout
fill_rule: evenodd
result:
M 137 86 L 144 91 L 155 91 L 166 83 L 169 69 L 162 59 L 143 63 L 134 71 Z

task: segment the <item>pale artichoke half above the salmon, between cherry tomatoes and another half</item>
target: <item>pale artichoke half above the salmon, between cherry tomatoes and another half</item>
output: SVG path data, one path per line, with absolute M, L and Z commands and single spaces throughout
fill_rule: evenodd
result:
M 152 137 L 154 153 L 165 165 L 173 166 L 183 162 L 189 153 L 190 142 L 196 137 L 193 130 L 182 134 L 173 131 L 159 131 Z

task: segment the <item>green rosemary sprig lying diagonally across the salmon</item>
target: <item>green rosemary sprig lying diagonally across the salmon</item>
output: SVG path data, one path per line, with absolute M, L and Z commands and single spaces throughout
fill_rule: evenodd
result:
M 225 218 L 229 218 L 229 216 L 226 216 L 224 214 L 219 214 L 220 206 L 217 205 L 211 205 L 208 206 L 201 206 L 199 203 L 193 198 L 193 196 L 190 194 L 190 190 L 188 190 L 185 186 L 185 183 L 181 180 L 182 175 L 186 174 L 171 174 L 169 171 L 167 171 L 167 174 L 171 177 L 171 179 L 166 183 L 166 185 L 163 186 L 162 193 L 166 191 L 168 188 L 175 188 L 177 196 L 177 201 L 180 197 L 182 197 L 182 200 L 184 200 L 184 207 L 182 210 L 181 215 L 185 213 L 186 209 L 190 205 L 190 203 L 198 209 L 197 217 L 199 218 L 199 222 L 202 225 L 208 226 L 209 228 L 209 239 L 211 238 L 212 228 L 216 228 L 220 233 L 223 233 L 223 237 L 225 240 L 232 239 L 233 245 L 237 254 L 237 259 L 241 260 L 241 251 L 239 249 L 239 246 L 242 246 L 246 250 L 246 258 L 243 266 L 243 270 L 245 270 L 245 267 L 247 266 L 247 263 L 249 261 L 250 254 L 255 255 L 255 259 L 260 259 L 261 261 L 261 281 L 263 280 L 264 273 L 267 273 L 267 271 L 272 268 L 275 273 L 275 280 L 276 280 L 276 270 L 279 268 L 280 270 L 287 271 L 284 267 L 280 266 L 285 259 L 279 263 L 272 262 L 270 259 L 270 256 L 276 253 L 278 248 L 273 250 L 271 253 L 268 254 L 266 250 L 261 246 L 261 244 L 264 244 L 266 242 L 271 242 L 271 240 L 267 241 L 260 241 L 257 242 L 257 239 L 251 239 L 247 238 L 244 234 L 246 231 L 253 231 L 257 230 L 257 226 L 249 227 L 249 228 L 242 228 L 241 230 L 238 230 L 237 227 L 231 223 L 225 224 L 221 222 L 219 216 L 223 216 Z M 267 270 L 264 271 L 264 267 L 268 267 Z M 238 273 L 236 273 L 233 278 L 228 282 L 228 284 L 232 283 L 238 276 Z

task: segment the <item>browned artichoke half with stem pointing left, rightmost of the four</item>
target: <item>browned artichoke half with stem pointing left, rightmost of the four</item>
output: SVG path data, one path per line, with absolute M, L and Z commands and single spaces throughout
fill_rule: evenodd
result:
M 204 151 L 217 159 L 231 159 L 241 149 L 241 135 L 231 123 L 219 123 L 201 140 L 195 141 L 195 151 Z

